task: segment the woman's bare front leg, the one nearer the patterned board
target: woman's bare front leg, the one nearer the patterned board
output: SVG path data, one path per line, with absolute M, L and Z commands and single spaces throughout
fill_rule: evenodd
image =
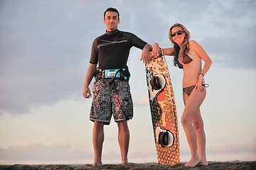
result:
M 188 145 L 191 149 L 191 160 L 185 164 L 185 166 L 196 166 L 201 162 L 201 159 L 198 155 L 196 130 L 192 125 L 192 120 L 196 113 L 199 111 L 199 107 L 201 106 L 201 103 L 205 97 L 206 90 L 198 91 L 198 89 L 193 89 L 193 92 L 189 97 L 183 93 L 185 108 L 181 117 L 181 123 L 183 125 L 184 132 L 186 133 Z

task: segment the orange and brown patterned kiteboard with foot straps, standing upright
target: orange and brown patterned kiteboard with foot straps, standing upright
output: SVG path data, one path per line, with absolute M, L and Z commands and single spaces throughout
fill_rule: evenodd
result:
M 159 164 L 175 165 L 180 155 L 174 90 L 164 55 L 150 55 L 145 66 L 156 154 Z

